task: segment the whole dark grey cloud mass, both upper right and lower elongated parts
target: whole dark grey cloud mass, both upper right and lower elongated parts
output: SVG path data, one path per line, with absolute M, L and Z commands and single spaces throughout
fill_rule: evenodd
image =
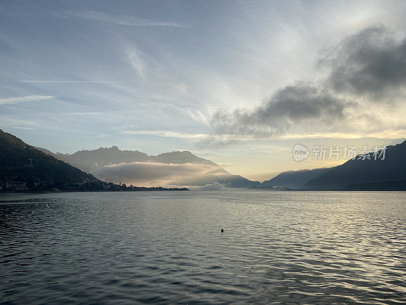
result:
M 343 131 L 350 120 L 378 124 L 379 117 L 368 113 L 365 103 L 381 98 L 385 104 L 392 102 L 388 97 L 401 93 L 406 85 L 406 39 L 397 40 L 383 26 L 368 27 L 330 48 L 319 63 L 330 71 L 318 85 L 296 83 L 279 89 L 254 110 L 215 113 L 216 134 L 260 138 L 292 129 Z M 360 100 L 365 95 L 367 99 Z M 203 140 L 205 145 L 209 141 L 213 139 Z

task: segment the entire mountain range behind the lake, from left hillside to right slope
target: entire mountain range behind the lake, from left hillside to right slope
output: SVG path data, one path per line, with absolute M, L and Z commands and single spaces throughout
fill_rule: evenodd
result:
M 206 186 L 218 182 L 230 188 L 263 190 L 405 190 L 406 141 L 387 146 L 385 159 L 358 157 L 332 168 L 282 172 L 263 181 L 233 175 L 218 164 L 190 151 L 149 156 L 117 146 L 81 150 L 75 154 L 52 153 L 30 146 L 0 130 L 0 181 L 22 179 L 27 184 L 47 181 L 55 186 L 96 181 L 124 182 L 136 186 Z M 29 164 L 30 159 L 32 166 Z M 97 182 L 98 181 L 98 182 Z

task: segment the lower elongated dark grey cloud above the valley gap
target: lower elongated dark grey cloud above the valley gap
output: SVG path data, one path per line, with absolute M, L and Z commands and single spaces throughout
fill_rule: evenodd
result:
M 318 87 L 296 84 L 278 90 L 253 111 L 219 111 L 212 123 L 217 134 L 276 136 L 295 124 L 335 126 L 346 120 L 346 107 L 353 102 L 334 97 Z

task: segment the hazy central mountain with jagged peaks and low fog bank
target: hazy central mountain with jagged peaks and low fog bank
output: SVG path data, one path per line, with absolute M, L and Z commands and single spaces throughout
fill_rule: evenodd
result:
M 98 175 L 106 180 L 126 184 L 165 186 L 204 186 L 219 182 L 230 188 L 260 186 L 240 175 L 233 175 L 218 164 L 199 158 L 190 151 L 172 151 L 158 156 L 149 156 L 141 151 L 120 150 L 117 146 L 81 150 L 76 153 L 52 153 L 37 147 L 56 159 L 79 169 Z

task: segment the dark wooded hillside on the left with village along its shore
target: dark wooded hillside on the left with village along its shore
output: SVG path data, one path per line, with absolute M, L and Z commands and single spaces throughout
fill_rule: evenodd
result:
M 10 135 L 10 137 L 13 136 Z M 21 141 L 14 138 L 11 140 Z M 102 179 L 99 180 L 92 174 L 46 155 L 23 142 L 20 146 L 16 146 L 16 144 L 12 147 L 9 146 L 6 145 L 2 151 L 2 153 L 6 151 L 8 154 L 0 154 L 0 163 L 5 164 L 0 168 L 0 192 L 2 193 L 189 191 L 187 188 L 126 186 L 121 184 L 121 181 L 117 185 L 113 182 L 103 181 L 101 175 Z M 25 160 L 28 160 L 29 163 L 25 164 Z M 36 165 L 32 164 L 33 160 L 37 163 Z

